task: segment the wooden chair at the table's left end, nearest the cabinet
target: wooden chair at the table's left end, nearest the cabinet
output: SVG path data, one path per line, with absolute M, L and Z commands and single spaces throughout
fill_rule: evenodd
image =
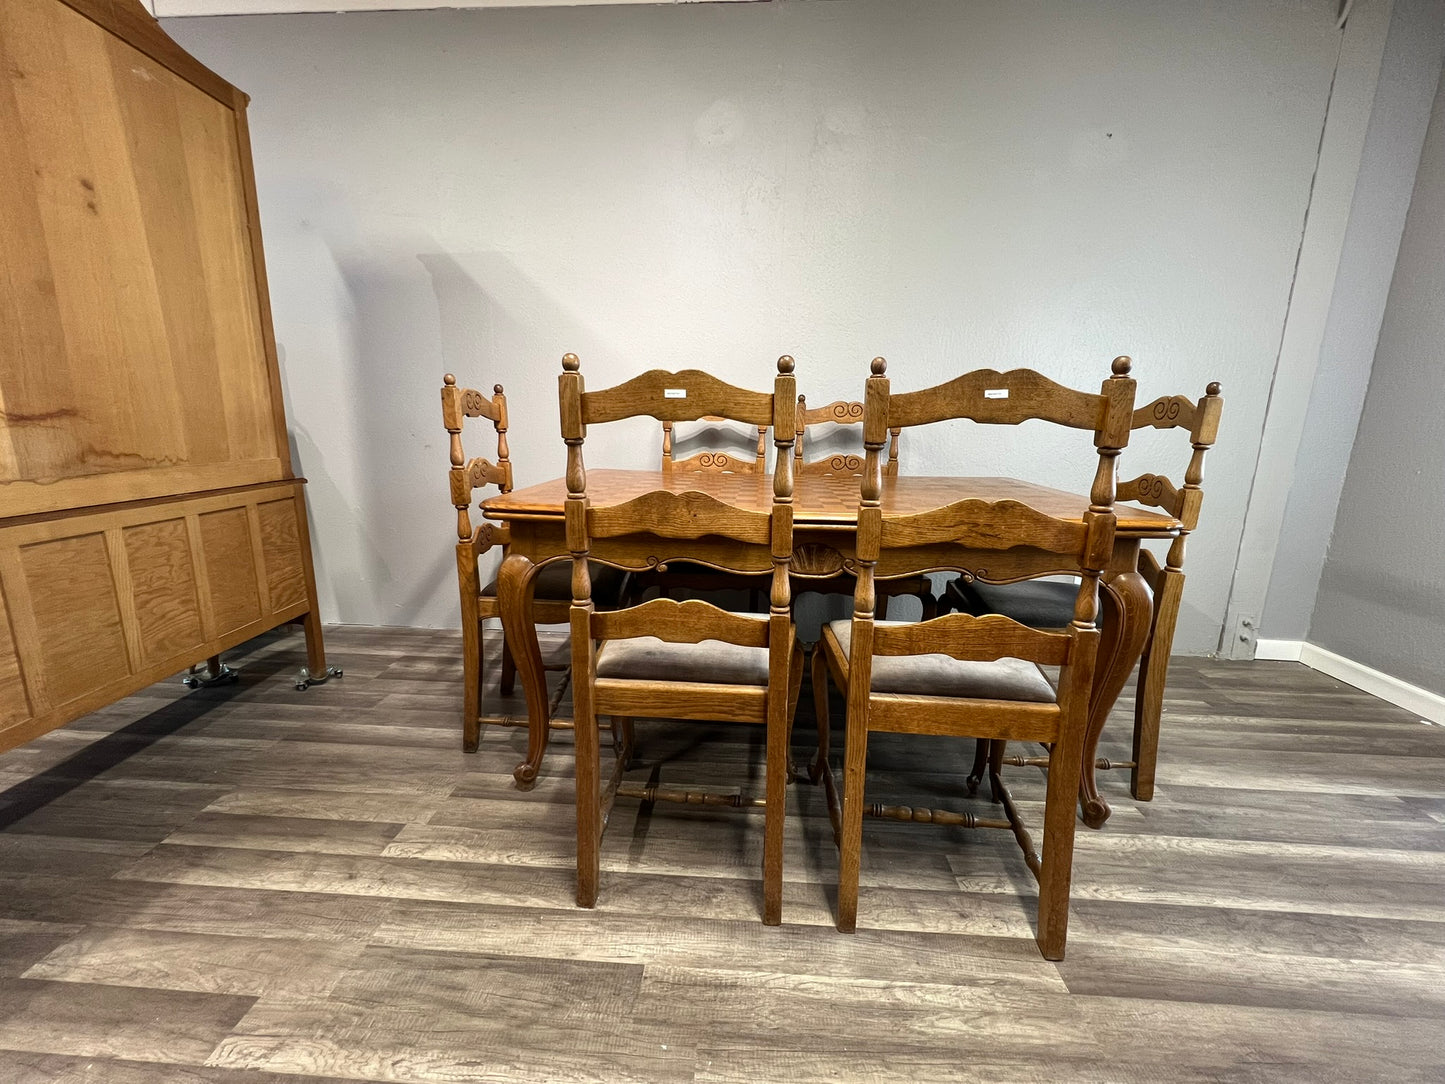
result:
M 467 458 L 462 451 L 461 431 L 467 418 L 486 418 L 497 432 L 497 460 L 483 457 Z M 457 584 L 461 593 L 461 642 L 462 642 L 462 737 L 461 747 L 475 753 L 481 741 L 481 623 L 501 617 L 497 603 L 497 581 L 481 584 L 478 558 L 493 546 L 506 552 L 510 542 L 509 529 L 503 523 L 471 525 L 473 493 L 484 486 L 496 486 L 499 491 L 512 490 L 512 458 L 507 448 L 507 396 L 501 384 L 493 386 L 490 396 L 471 387 L 458 387 L 457 377 L 448 373 L 442 377 L 442 425 L 451 441 L 451 486 L 452 506 L 457 509 Z M 604 606 L 614 606 L 626 584 L 626 577 L 613 568 L 598 568 L 594 594 Z M 538 577 L 536 601 L 532 617 L 536 624 L 565 624 L 571 606 L 571 577 L 561 565 L 543 569 Z M 565 669 L 549 668 L 549 669 Z M 501 648 L 501 694 L 512 695 L 516 685 L 516 663 L 506 643 Z M 555 710 L 555 704 L 552 705 Z M 497 715 L 486 720 L 499 726 L 525 727 L 526 715 Z

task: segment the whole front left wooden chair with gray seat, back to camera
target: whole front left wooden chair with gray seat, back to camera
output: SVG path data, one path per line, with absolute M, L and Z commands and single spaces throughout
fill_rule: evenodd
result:
M 577 736 L 577 902 L 597 902 L 603 828 L 618 795 L 647 801 L 744 805 L 621 782 L 631 759 L 634 717 L 721 720 L 767 727 L 763 831 L 763 921 L 782 921 L 783 806 L 788 743 L 802 679 L 802 652 L 790 616 L 793 360 L 779 358 L 772 395 L 725 384 L 696 370 L 653 370 L 617 387 L 587 392 L 575 354 L 562 358 L 558 397 L 566 441 L 566 539 L 572 554 L 572 705 Z M 588 425 L 650 415 L 688 421 L 720 415 L 772 425 L 779 445 L 772 507 L 724 504 L 705 493 L 655 490 L 621 504 L 587 489 L 582 442 Z M 598 504 L 594 504 L 594 500 Z M 601 613 L 592 568 L 650 568 L 698 558 L 737 572 L 772 575 L 770 608 L 736 614 L 699 600 L 653 598 Z M 610 715 L 617 763 L 601 785 L 597 718 Z

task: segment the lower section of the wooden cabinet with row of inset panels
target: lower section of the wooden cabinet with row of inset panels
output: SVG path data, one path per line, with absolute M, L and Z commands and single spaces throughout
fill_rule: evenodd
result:
M 16 691 L 0 710 L 0 747 L 306 613 L 305 536 L 282 529 L 267 541 L 256 510 L 295 509 L 301 484 L 0 520 L 0 689 Z M 272 567 L 303 578 L 296 597 L 295 580 L 282 577 L 280 603 L 262 607 L 257 562 L 267 568 L 267 548 Z M 220 627 L 218 611 L 230 627 Z

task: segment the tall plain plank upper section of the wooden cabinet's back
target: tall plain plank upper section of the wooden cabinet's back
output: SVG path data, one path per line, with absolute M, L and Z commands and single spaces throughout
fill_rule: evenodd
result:
M 230 103 L 55 0 L 4 4 L 0 62 L 7 503 L 280 478 Z

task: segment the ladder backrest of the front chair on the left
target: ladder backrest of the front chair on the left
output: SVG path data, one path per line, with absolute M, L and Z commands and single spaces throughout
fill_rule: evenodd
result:
M 769 623 L 773 623 L 775 632 L 790 627 L 788 567 L 793 533 L 793 461 L 789 451 L 796 390 L 793 360 L 788 356 L 777 360 L 770 393 L 736 387 L 698 370 L 652 370 L 616 387 L 588 392 L 577 356 L 562 358 L 558 405 L 562 439 L 566 442 L 565 515 L 566 545 L 572 554 L 574 614 L 579 607 L 591 613 L 590 559 L 643 569 L 686 558 L 731 571 L 773 572 L 766 619 L 730 614 L 696 600 L 676 603 L 656 598 L 630 610 L 591 613 L 588 629 L 594 637 L 660 636 L 676 642 L 722 639 L 757 645 L 759 635 L 767 642 Z M 772 428 L 777 455 L 769 510 L 734 507 L 694 490 L 655 490 L 623 504 L 592 507 L 582 461 L 587 426 L 636 416 L 663 422 L 714 416 Z M 672 546 L 672 542 L 678 545 Z

